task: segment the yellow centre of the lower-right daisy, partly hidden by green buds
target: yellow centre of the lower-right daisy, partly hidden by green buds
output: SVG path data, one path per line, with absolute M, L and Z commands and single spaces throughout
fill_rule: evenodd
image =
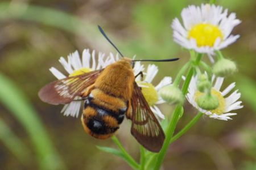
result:
M 212 113 L 216 113 L 218 115 L 221 115 L 225 112 L 225 99 L 224 97 L 221 95 L 221 93 L 217 90 L 214 90 L 214 88 L 212 88 L 212 90 L 210 91 L 211 94 L 213 96 L 216 96 L 217 99 L 218 99 L 218 107 L 214 110 L 210 110 L 210 112 Z M 204 93 L 200 92 L 200 91 L 196 91 L 195 94 L 194 94 L 194 99 L 195 101 L 201 96 L 203 95 Z

